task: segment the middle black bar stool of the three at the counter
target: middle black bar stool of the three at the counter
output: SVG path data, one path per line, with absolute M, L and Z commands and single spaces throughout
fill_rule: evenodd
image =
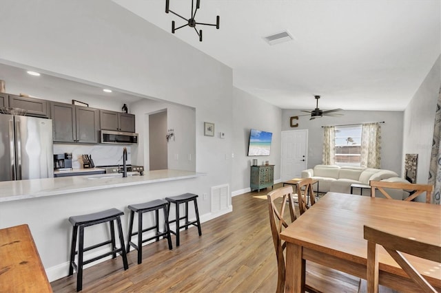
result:
M 168 249 L 172 250 L 172 237 L 170 236 L 170 226 L 168 224 L 168 202 L 163 199 L 156 199 L 152 202 L 145 202 L 144 204 L 132 204 L 128 206 L 130 209 L 130 224 L 129 224 L 129 236 L 127 241 L 127 253 L 130 252 L 130 246 L 133 246 L 134 249 L 138 250 L 138 264 L 143 262 L 143 243 L 150 241 L 156 238 L 156 241 L 159 241 L 159 237 L 167 238 L 168 240 Z M 159 232 L 159 210 L 163 209 L 164 212 L 164 221 L 165 228 L 164 232 Z M 155 211 L 155 225 L 149 228 L 143 229 L 143 213 Z M 132 232 L 133 230 L 133 218 L 134 213 L 138 213 L 138 231 Z M 156 230 L 156 234 L 153 237 L 149 237 L 143 240 L 143 232 Z M 133 243 L 132 236 L 138 235 L 138 245 Z

